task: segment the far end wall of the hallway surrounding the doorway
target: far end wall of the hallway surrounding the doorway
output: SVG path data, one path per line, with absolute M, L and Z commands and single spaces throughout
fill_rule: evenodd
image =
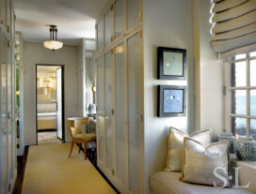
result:
M 64 46 L 52 52 L 42 44 L 24 42 L 24 144 L 36 144 L 36 64 L 64 65 L 65 134 L 70 141 L 67 118 L 77 115 L 77 47 Z

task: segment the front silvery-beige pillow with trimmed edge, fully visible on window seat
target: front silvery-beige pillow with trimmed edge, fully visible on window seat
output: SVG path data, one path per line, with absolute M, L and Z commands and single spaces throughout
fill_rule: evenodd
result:
M 229 150 L 229 141 L 215 142 L 204 147 L 200 142 L 184 138 L 181 180 L 187 183 L 230 187 Z

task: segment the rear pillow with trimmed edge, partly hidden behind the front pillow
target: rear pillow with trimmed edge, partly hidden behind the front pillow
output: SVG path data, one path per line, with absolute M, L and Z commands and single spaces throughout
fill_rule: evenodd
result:
M 183 150 L 184 138 L 189 135 L 183 130 L 174 127 L 169 128 L 168 136 L 168 160 L 165 171 L 167 172 L 182 172 L 183 167 Z M 191 134 L 191 138 L 200 142 L 204 146 L 211 143 L 211 129 L 196 131 Z

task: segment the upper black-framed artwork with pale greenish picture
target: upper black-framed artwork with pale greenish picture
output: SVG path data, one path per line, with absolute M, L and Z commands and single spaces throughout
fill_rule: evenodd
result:
M 186 79 L 186 51 L 167 47 L 157 48 L 158 79 Z

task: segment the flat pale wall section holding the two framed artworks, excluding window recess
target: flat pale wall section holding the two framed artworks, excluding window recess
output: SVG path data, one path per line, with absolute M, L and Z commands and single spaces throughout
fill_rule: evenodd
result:
M 186 49 L 188 85 L 188 112 L 194 104 L 193 93 L 193 22 L 192 1 L 187 0 L 144 0 L 144 117 L 145 117 L 145 187 L 149 193 L 148 181 L 152 172 L 163 171 L 168 153 L 168 127 L 193 130 L 184 117 L 157 117 L 157 85 L 185 85 L 186 81 L 157 79 L 156 50 L 159 46 Z

